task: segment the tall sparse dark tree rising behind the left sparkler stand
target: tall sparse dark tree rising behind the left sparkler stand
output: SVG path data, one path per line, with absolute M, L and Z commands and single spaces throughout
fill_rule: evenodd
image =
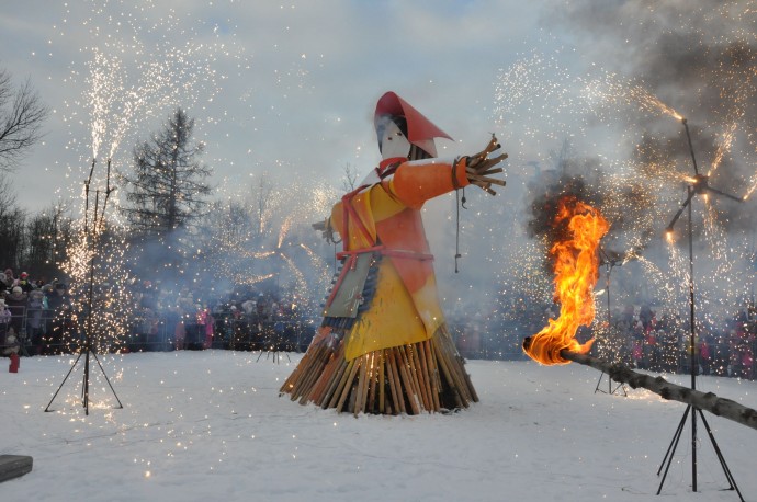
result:
M 200 163 L 202 142 L 192 142 L 194 119 L 178 109 L 162 130 L 134 149 L 134 174 L 124 213 L 136 233 L 163 237 L 179 228 L 191 229 L 204 214 L 204 180 L 212 170 Z

